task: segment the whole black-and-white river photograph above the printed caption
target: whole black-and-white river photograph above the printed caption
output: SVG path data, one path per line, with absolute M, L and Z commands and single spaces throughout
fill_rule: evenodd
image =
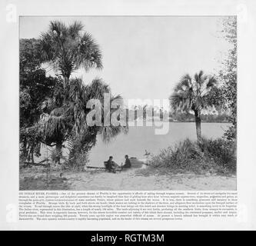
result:
M 20 16 L 19 190 L 236 191 L 237 45 L 233 15 Z

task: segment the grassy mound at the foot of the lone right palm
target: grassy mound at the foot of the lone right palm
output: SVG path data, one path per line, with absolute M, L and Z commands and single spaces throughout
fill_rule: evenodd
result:
M 164 168 L 172 172 L 205 172 L 227 174 L 236 171 L 236 145 L 223 138 L 201 141 L 185 139 L 175 147 L 168 147 L 152 156 L 152 168 Z

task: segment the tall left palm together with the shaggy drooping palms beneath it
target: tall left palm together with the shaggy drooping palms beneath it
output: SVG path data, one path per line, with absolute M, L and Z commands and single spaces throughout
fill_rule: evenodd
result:
M 91 98 L 103 101 L 104 93 L 110 88 L 96 78 L 91 85 L 84 85 L 80 78 L 70 80 L 71 73 L 78 68 L 102 68 L 101 51 L 90 34 L 83 31 L 81 22 L 65 25 L 62 22 L 50 22 L 47 32 L 42 33 L 39 48 L 44 62 L 50 63 L 63 77 L 63 90 L 60 100 L 52 100 L 52 111 L 45 118 L 46 145 L 55 143 L 56 152 L 61 154 L 64 141 L 71 142 L 71 155 L 79 151 L 88 151 L 101 133 L 105 141 L 115 137 L 123 127 L 88 127 L 86 115 L 89 109 L 86 103 Z M 62 98 L 63 95 L 63 98 Z M 112 100 L 114 97 L 112 97 Z M 56 105 L 56 101 L 62 101 Z M 58 160 L 59 162 L 59 160 Z

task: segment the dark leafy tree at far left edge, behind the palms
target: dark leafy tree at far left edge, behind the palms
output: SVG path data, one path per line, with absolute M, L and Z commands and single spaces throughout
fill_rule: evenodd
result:
M 21 39 L 19 45 L 21 158 L 34 161 L 34 155 L 40 155 L 42 142 L 38 124 L 42 105 L 47 98 L 52 98 L 58 78 L 47 77 L 41 67 L 37 39 Z

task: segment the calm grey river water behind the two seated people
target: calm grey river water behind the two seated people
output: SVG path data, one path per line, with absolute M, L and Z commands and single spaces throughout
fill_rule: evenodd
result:
M 130 127 L 127 135 L 118 135 L 110 143 L 105 144 L 98 136 L 97 144 L 91 149 L 90 165 L 102 166 L 103 161 L 112 155 L 114 160 L 124 163 L 124 156 L 145 158 L 145 150 L 151 154 L 157 154 L 162 148 L 175 145 L 185 138 L 196 139 L 194 122 L 170 122 L 167 135 L 155 135 L 153 127 Z M 228 123 L 202 123 L 202 135 L 208 138 L 218 138 L 228 128 Z

